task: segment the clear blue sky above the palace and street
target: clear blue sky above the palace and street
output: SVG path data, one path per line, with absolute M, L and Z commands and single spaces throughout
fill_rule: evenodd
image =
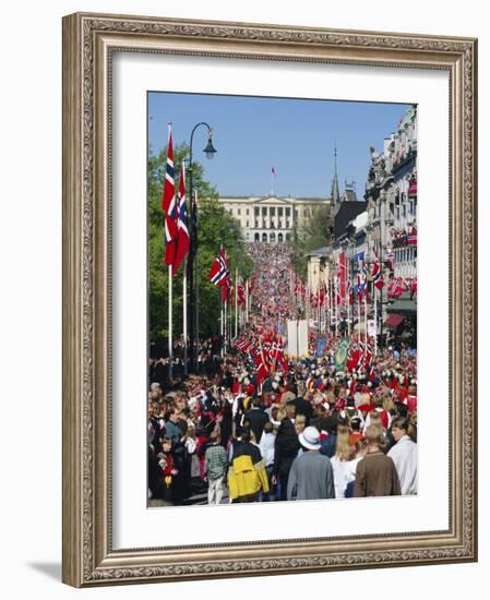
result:
M 359 200 L 364 191 L 369 146 L 382 149 L 408 105 L 148 93 L 148 141 L 156 154 L 167 143 L 172 123 L 174 145 L 189 144 L 193 127 L 206 121 L 213 128 L 216 155 L 202 149 L 206 129 L 196 130 L 193 159 L 222 196 L 330 195 L 334 177 L 334 147 L 340 192 L 344 181 L 356 181 Z

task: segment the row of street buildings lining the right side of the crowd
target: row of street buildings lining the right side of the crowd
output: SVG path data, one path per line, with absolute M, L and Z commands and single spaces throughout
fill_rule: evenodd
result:
M 381 151 L 370 148 L 370 165 L 362 201 L 336 205 L 332 243 L 309 255 L 312 289 L 347 268 L 355 285 L 364 263 L 369 272 L 378 260 L 384 288 L 377 313 L 370 316 L 383 339 L 417 340 L 417 108 L 409 107 Z

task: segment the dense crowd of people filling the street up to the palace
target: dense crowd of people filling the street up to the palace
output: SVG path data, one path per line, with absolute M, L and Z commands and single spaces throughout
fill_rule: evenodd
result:
M 242 334 L 262 353 L 296 311 L 290 259 L 280 244 L 250 253 L 256 275 Z M 340 371 L 339 343 L 328 335 L 318 357 L 282 351 L 264 373 L 256 355 L 231 345 L 222 356 L 211 339 L 207 368 L 172 387 L 152 359 L 151 505 L 182 505 L 198 492 L 208 504 L 417 494 L 416 349 L 378 348 Z

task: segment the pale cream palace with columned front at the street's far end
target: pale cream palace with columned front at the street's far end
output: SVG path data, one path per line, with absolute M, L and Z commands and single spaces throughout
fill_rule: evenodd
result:
M 219 203 L 236 218 L 246 242 L 286 243 L 292 241 L 295 227 L 310 219 L 316 209 L 332 207 L 327 197 L 227 196 Z

